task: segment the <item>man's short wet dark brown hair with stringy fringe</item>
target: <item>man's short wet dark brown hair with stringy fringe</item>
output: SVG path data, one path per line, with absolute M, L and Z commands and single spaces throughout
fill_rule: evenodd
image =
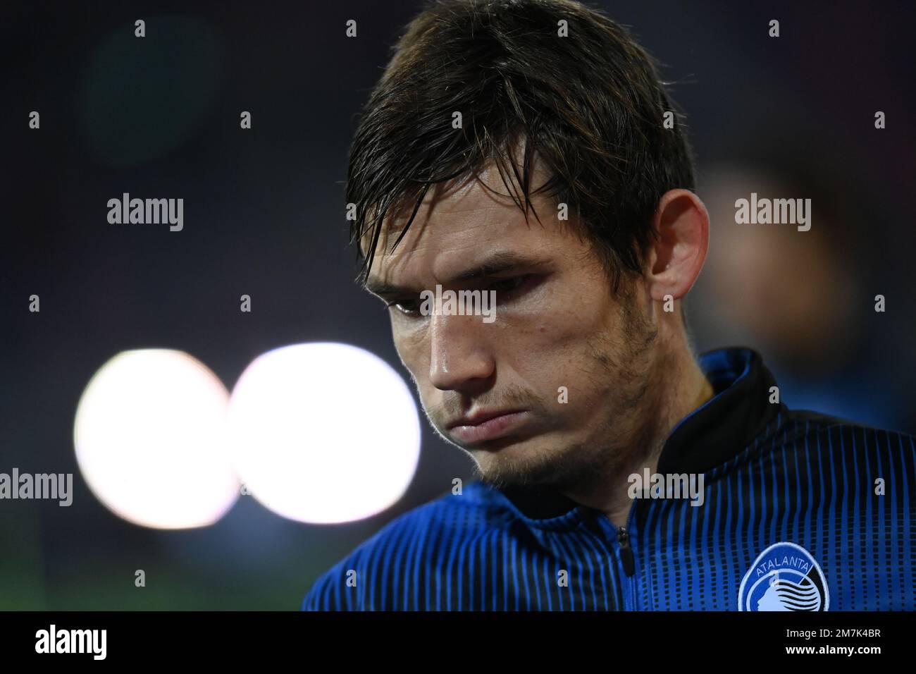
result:
M 534 193 L 567 204 L 617 292 L 622 271 L 642 271 L 661 195 L 694 189 L 682 116 L 665 84 L 625 28 L 580 3 L 431 2 L 394 46 L 350 150 L 360 280 L 386 218 L 406 219 L 394 249 L 431 186 L 495 162 L 526 218 Z M 673 128 L 663 125 L 668 111 Z M 551 178 L 532 191 L 534 153 Z

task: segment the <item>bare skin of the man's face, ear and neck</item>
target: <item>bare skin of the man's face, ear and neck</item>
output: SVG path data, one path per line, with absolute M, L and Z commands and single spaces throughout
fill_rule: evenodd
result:
M 534 171 L 540 184 L 537 161 Z M 662 236 L 623 300 L 572 227 L 529 222 L 494 192 L 495 170 L 479 179 L 428 193 L 396 249 L 387 239 L 399 223 L 389 223 L 366 288 L 389 307 L 398 356 L 431 424 L 483 480 L 550 484 L 623 522 L 633 503 L 627 476 L 654 470 L 671 427 L 712 397 L 680 315 L 661 308 L 666 295 L 687 293 L 702 266 L 703 205 L 686 190 L 662 197 Z M 551 213 L 540 194 L 534 201 Z M 416 298 L 436 284 L 496 289 L 498 320 L 423 315 Z M 557 403 L 560 386 L 568 403 Z M 510 411 L 496 433 L 461 424 Z

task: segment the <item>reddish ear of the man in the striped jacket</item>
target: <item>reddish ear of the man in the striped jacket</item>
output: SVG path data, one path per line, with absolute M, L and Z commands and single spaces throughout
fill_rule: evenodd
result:
M 652 216 L 656 234 L 644 274 L 653 300 L 665 295 L 680 300 L 703 269 L 709 248 L 709 214 L 700 198 L 689 190 L 664 193 Z

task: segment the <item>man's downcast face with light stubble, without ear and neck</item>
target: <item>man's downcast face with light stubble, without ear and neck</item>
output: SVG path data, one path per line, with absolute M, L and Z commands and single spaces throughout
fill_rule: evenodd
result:
M 499 194 L 479 181 L 431 190 L 394 253 L 399 227 L 383 232 L 367 285 L 394 303 L 395 347 L 432 425 L 482 480 L 582 487 L 651 431 L 651 303 L 638 282 L 628 301 L 611 292 L 549 200 L 536 195 L 540 223 L 526 223 L 496 170 L 482 179 Z M 437 284 L 495 291 L 496 319 L 423 315 L 420 293 Z

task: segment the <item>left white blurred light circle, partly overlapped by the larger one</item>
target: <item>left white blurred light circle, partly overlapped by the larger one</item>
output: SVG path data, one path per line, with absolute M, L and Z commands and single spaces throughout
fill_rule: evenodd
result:
M 128 522 L 211 525 L 239 482 L 225 448 L 228 392 L 211 370 L 168 349 L 124 351 L 82 393 L 76 459 L 95 496 Z

